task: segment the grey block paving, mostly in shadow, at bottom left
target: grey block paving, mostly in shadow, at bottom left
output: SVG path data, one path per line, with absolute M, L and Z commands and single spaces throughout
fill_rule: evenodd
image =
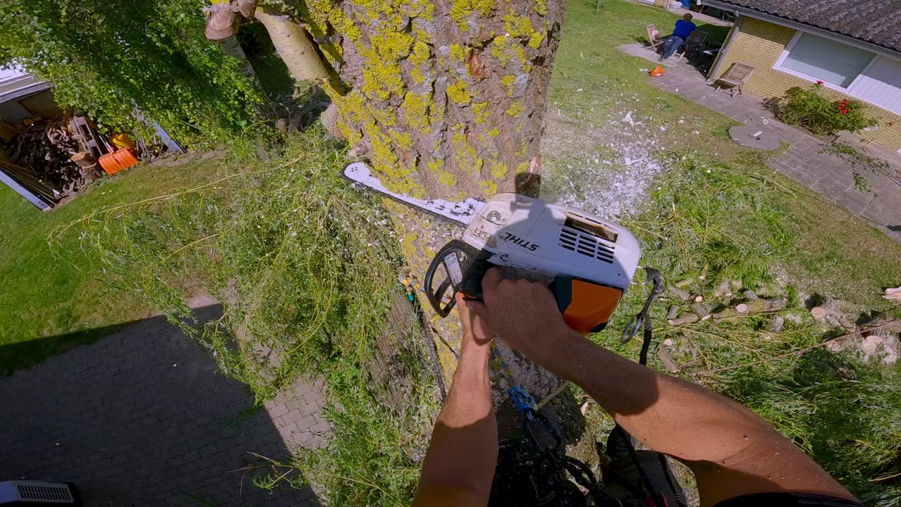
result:
M 209 317 L 218 308 L 198 311 Z M 0 378 L 0 481 L 72 482 L 86 505 L 319 505 L 310 488 L 268 493 L 239 469 L 284 458 L 328 430 L 322 384 L 248 413 L 253 394 L 164 318 Z M 236 471 L 238 470 L 238 471 Z

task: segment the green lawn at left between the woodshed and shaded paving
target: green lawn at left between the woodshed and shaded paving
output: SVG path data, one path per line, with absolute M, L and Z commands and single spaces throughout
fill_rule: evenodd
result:
M 141 164 L 105 178 L 52 211 L 39 211 L 0 185 L 0 373 L 39 363 L 70 346 L 150 315 L 143 298 L 98 280 L 77 238 L 56 253 L 48 235 L 98 207 L 131 202 L 205 181 L 213 164 Z

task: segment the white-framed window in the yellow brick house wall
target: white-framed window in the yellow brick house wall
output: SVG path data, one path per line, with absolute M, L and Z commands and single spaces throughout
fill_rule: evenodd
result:
M 799 32 L 776 62 L 776 69 L 848 88 L 875 56 L 855 46 Z

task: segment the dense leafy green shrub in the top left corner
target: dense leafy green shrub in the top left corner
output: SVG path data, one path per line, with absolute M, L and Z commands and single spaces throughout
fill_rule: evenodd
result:
M 112 129 L 141 130 L 135 106 L 179 143 L 227 142 L 260 97 L 204 35 L 200 0 L 0 2 L 0 64 L 14 60 Z

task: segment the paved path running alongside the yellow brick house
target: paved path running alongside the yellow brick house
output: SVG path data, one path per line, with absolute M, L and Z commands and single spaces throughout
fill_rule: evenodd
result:
M 619 49 L 656 62 L 655 55 L 641 44 L 628 44 Z M 780 123 L 761 105 L 760 97 L 750 94 L 729 97 L 724 93 L 714 93 L 714 88 L 705 83 L 704 76 L 685 60 L 672 60 L 666 62 L 667 70 L 663 77 L 651 80 L 654 87 L 790 143 L 786 152 L 767 161 L 770 169 L 814 189 L 824 198 L 865 218 L 886 235 L 901 242 L 901 185 L 886 175 L 866 174 L 872 191 L 861 192 L 854 187 L 850 164 L 833 155 L 820 153 L 825 146 L 823 141 Z M 893 170 L 901 167 L 901 157 L 887 154 L 887 160 L 892 162 Z

